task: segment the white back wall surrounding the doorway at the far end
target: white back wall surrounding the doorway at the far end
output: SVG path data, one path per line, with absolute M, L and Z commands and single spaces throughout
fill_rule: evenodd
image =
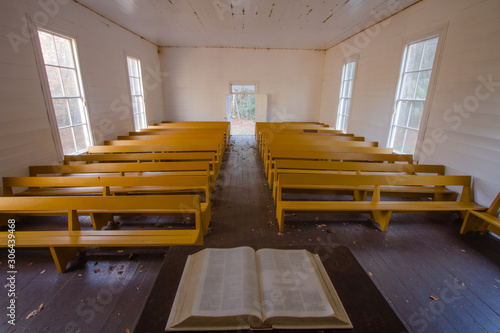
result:
M 316 121 L 324 52 L 161 48 L 168 120 L 224 120 L 229 82 L 257 82 L 268 95 L 268 121 Z

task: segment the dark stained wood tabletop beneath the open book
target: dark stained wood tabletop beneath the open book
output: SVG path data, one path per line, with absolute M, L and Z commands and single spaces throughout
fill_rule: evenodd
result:
M 279 248 L 289 249 L 290 247 Z M 309 245 L 300 248 L 305 248 L 320 256 L 354 326 L 349 330 L 311 330 L 311 332 L 399 333 L 406 331 L 405 326 L 347 247 L 323 248 Z M 254 249 L 258 248 L 254 247 Z M 170 248 L 137 324 L 136 333 L 159 333 L 165 330 L 186 259 L 189 254 L 199 250 L 199 247 L 194 246 Z M 273 331 L 295 332 L 294 330 Z

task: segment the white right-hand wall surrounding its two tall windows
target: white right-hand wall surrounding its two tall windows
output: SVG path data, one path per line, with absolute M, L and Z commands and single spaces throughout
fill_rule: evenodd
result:
M 500 191 L 499 1 L 424 0 L 328 50 L 319 119 L 335 124 L 342 64 L 356 53 L 348 130 L 385 145 L 404 44 L 445 25 L 420 162 L 472 175 L 476 202 L 489 205 Z

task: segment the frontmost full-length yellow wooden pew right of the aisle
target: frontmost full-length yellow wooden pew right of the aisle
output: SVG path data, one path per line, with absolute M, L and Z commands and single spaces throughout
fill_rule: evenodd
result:
M 283 174 L 280 176 L 276 203 L 276 219 L 283 232 L 285 214 L 290 212 L 355 212 L 369 213 L 382 231 L 387 230 L 391 214 L 408 212 L 450 211 L 465 213 L 484 210 L 470 196 L 470 176 L 424 175 L 318 175 Z M 283 189 L 341 190 L 343 187 L 372 187 L 371 201 L 283 201 Z M 460 201 L 381 201 L 383 186 L 459 186 Z

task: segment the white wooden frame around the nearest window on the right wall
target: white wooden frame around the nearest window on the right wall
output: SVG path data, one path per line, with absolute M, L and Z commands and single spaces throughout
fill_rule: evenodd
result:
M 395 118 L 396 118 L 396 112 L 397 112 L 397 102 L 398 102 L 398 100 L 400 100 L 399 96 L 401 94 L 401 89 L 402 89 L 402 83 L 403 83 L 402 77 L 405 73 L 405 71 L 404 71 L 405 65 L 406 65 L 405 60 L 406 60 L 408 48 L 412 44 L 438 37 L 436 52 L 434 54 L 434 61 L 432 63 L 432 68 L 431 68 L 431 75 L 429 77 L 429 84 L 427 86 L 427 94 L 426 94 L 425 100 L 423 100 L 424 107 L 423 107 L 422 116 L 420 119 L 415 149 L 413 151 L 413 160 L 415 162 L 418 162 L 421 159 L 422 144 L 423 144 L 423 141 L 425 138 L 425 133 L 427 131 L 427 123 L 428 123 L 429 116 L 430 116 L 430 110 L 431 110 L 431 106 L 432 106 L 432 100 L 434 97 L 437 77 L 438 77 L 439 68 L 440 68 L 440 64 L 441 64 L 441 57 L 443 54 L 444 41 L 446 39 L 447 29 L 448 29 L 448 23 L 444 24 L 443 26 L 441 26 L 439 28 L 429 29 L 426 33 L 423 33 L 423 34 L 421 33 L 421 34 L 415 35 L 411 38 L 407 38 L 404 41 L 403 47 L 401 50 L 401 54 L 402 54 L 401 58 L 400 58 L 401 62 L 400 62 L 400 67 L 399 67 L 399 72 L 398 72 L 397 86 L 396 86 L 396 91 L 394 94 L 392 114 L 390 117 L 389 130 L 388 130 L 388 135 L 387 135 L 387 140 L 386 140 L 387 147 L 391 147 L 392 132 L 393 132 L 393 127 L 394 127 L 393 125 L 394 125 L 394 122 L 396 120 Z

